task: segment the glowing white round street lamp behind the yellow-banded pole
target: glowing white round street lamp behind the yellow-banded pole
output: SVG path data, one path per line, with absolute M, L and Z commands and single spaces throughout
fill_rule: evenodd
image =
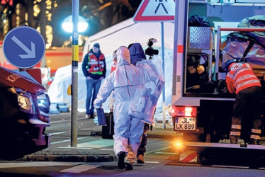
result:
M 88 28 L 89 24 L 82 16 L 79 16 L 78 21 L 78 32 L 82 33 Z M 66 18 L 64 18 L 64 21 L 62 21 L 62 29 L 67 33 L 73 32 L 72 16 L 67 16 Z

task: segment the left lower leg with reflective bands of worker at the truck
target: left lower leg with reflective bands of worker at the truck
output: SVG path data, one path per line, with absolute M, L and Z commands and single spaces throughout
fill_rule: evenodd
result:
M 242 118 L 232 117 L 232 125 L 230 132 L 230 143 L 237 144 L 241 135 L 241 120 Z

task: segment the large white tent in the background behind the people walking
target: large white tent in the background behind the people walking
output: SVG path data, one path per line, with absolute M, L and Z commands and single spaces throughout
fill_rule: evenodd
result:
M 84 45 L 84 55 L 93 47 L 94 43 L 99 43 L 101 52 L 106 57 L 106 76 L 111 71 L 113 61 L 113 52 L 120 46 L 130 45 L 133 42 L 139 42 L 144 50 L 148 47 L 147 42 L 150 38 L 156 38 L 157 42 L 152 47 L 159 50 L 159 57 L 162 59 L 161 51 L 161 23 L 135 23 L 133 18 L 113 25 L 111 28 L 102 30 L 89 37 Z M 165 96 L 166 105 L 171 103 L 172 90 L 172 64 L 173 64 L 173 46 L 174 46 L 174 23 L 164 23 L 164 61 L 165 61 Z M 147 56 L 147 58 L 149 58 Z M 55 79 L 52 81 L 48 94 L 52 103 L 67 103 L 71 105 L 71 96 L 67 95 L 67 88 L 72 82 L 72 66 L 61 67 L 57 69 Z M 85 111 L 86 103 L 86 80 L 81 69 L 81 62 L 78 68 L 78 110 Z M 108 112 L 108 100 L 103 103 L 103 109 Z M 162 96 L 157 103 L 157 112 L 162 111 Z

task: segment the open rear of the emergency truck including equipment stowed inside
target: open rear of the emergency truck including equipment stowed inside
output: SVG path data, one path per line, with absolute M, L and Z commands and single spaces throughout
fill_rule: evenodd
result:
M 222 67 L 225 59 L 241 59 L 254 41 L 245 59 L 265 92 L 264 11 L 265 3 L 236 6 L 176 1 L 171 115 L 174 131 L 183 134 L 186 147 L 265 149 L 262 145 L 230 144 L 235 94 L 227 91 Z M 199 23 L 189 23 L 191 18 Z M 233 39 L 235 33 L 242 39 Z M 201 73 L 196 73 L 200 69 Z M 265 145 L 262 121 L 260 144 Z M 242 124 L 250 128 L 248 121 Z

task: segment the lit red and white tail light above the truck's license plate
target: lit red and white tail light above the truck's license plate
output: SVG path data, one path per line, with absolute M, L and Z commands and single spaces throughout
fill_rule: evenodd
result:
M 171 107 L 171 116 L 185 116 L 185 117 L 196 117 L 197 108 L 193 106 L 176 106 L 172 105 Z

